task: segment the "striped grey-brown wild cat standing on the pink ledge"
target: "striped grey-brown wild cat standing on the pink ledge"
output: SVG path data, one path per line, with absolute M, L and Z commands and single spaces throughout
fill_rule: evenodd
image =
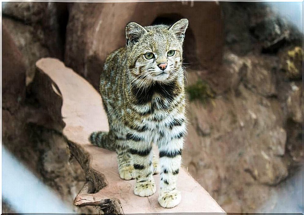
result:
M 182 44 L 188 20 L 172 26 L 126 26 L 126 46 L 106 60 L 100 93 L 109 132 L 93 132 L 92 144 L 116 150 L 122 179 L 135 178 L 134 194 L 156 192 L 152 143 L 159 148 L 161 206 L 181 201 L 177 176 L 186 135 Z

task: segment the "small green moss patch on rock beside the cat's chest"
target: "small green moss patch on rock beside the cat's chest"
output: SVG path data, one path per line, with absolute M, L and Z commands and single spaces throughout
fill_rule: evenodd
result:
M 189 94 L 190 101 L 197 99 L 203 104 L 215 96 L 209 84 L 204 80 L 197 80 L 195 84 L 189 85 L 186 87 L 186 92 Z

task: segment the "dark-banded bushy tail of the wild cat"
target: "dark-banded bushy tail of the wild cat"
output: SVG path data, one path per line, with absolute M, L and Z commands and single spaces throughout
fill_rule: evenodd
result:
M 116 150 L 115 141 L 109 137 L 108 132 L 93 132 L 89 137 L 89 141 L 95 146 L 99 146 L 110 151 Z

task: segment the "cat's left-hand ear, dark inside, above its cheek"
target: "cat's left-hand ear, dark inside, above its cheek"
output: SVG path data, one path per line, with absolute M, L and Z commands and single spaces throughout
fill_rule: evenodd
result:
M 127 45 L 129 46 L 136 43 L 144 33 L 147 33 L 147 30 L 140 24 L 137 24 L 136 22 L 128 23 L 126 26 Z

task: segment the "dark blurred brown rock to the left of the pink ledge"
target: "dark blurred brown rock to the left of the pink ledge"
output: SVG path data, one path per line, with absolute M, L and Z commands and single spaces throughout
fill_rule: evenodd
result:
M 61 98 L 43 76 L 35 76 L 35 62 L 38 58 L 50 55 L 60 57 L 63 51 L 62 45 L 58 43 L 57 21 L 52 23 L 45 19 L 47 10 L 50 12 L 54 9 L 52 4 L 11 2 L 4 7 L 2 144 L 24 162 L 33 174 L 53 188 L 62 201 L 73 204 L 86 178 L 79 163 L 70 155 L 66 140 L 60 133 L 62 119 L 60 115 L 56 117 L 55 113 L 60 112 Z M 47 22 L 41 23 L 42 20 Z M 46 27 L 48 24 L 51 29 Z M 42 91 L 46 86 L 53 94 Z M 46 104 L 52 104 L 53 108 Z M 75 207 L 74 211 L 100 212 L 93 206 Z M 12 213 L 14 210 L 4 202 L 2 212 Z

